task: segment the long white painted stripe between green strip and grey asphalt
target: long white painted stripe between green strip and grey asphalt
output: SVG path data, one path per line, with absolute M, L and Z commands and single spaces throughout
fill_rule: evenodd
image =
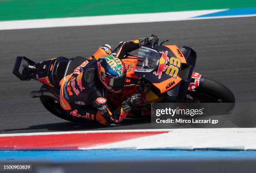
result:
M 228 10 L 228 9 L 193 10 L 193 11 L 127 14 L 127 15 L 102 15 L 102 16 L 87 16 L 87 17 L 75 17 L 75 18 L 10 20 L 10 21 L 0 22 L 0 30 L 191 20 L 191 18 L 196 16 L 205 15 L 209 13 L 217 13 L 225 10 Z

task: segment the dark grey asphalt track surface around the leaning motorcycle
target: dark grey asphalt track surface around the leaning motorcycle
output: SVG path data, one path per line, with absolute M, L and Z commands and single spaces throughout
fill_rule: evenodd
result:
M 151 33 L 161 41 L 192 47 L 197 52 L 196 71 L 228 86 L 237 102 L 256 101 L 256 17 L 0 31 L 0 133 L 151 127 L 149 120 L 125 120 L 118 127 L 67 122 L 30 97 L 40 83 L 20 81 L 12 74 L 16 56 L 36 62 L 88 57 L 102 44 L 115 47 Z

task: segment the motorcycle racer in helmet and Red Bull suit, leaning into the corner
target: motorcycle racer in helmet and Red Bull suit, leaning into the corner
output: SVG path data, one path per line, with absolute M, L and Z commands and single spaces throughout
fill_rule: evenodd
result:
M 120 42 L 114 51 L 108 45 L 98 48 L 74 73 L 61 80 L 61 107 L 71 116 L 94 120 L 104 125 L 121 122 L 131 107 L 140 104 L 141 94 L 133 94 L 120 107 L 112 110 L 107 104 L 104 88 L 110 92 L 120 92 L 126 77 L 126 68 L 120 59 L 129 52 L 143 45 L 153 45 L 158 40 L 156 35 L 151 35 L 135 41 Z

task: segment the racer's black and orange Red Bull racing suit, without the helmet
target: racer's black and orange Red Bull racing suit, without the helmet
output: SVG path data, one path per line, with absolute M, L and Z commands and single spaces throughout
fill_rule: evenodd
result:
M 104 86 L 97 74 L 97 60 L 111 53 L 122 59 L 129 52 L 138 49 L 143 40 L 119 43 L 112 52 L 108 46 L 102 46 L 78 66 L 74 73 L 61 80 L 60 103 L 68 114 L 98 121 L 102 124 L 115 124 L 123 120 L 130 108 L 123 105 L 111 111 L 105 98 Z

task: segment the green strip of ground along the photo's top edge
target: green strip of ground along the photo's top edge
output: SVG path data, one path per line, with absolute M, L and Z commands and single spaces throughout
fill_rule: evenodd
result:
M 256 7 L 256 0 L 1 0 L 0 20 Z

